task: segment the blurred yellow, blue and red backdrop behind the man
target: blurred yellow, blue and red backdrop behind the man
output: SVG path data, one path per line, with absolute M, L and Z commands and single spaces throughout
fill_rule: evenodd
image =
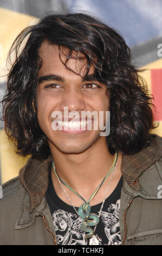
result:
M 86 11 L 124 36 L 132 62 L 145 69 L 141 75 L 154 96 L 153 133 L 162 136 L 162 0 L 0 0 L 0 97 L 6 88 L 9 48 L 23 28 L 44 14 Z M 0 106 L 2 116 L 2 106 Z M 5 136 L 0 122 L 0 184 L 18 175 L 28 157 L 20 157 Z

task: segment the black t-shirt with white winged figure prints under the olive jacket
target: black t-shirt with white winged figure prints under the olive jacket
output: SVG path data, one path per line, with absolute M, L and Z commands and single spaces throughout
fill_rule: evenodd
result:
M 115 190 L 105 200 L 100 221 L 95 229 L 95 237 L 99 245 L 121 245 L 119 210 L 122 177 Z M 60 189 L 62 189 L 60 187 Z M 85 241 L 86 232 L 82 230 L 83 218 L 76 214 L 73 206 L 64 203 L 56 194 L 51 172 L 49 172 L 49 185 L 46 199 L 56 231 L 58 245 L 89 245 L 89 239 Z M 99 215 L 101 204 L 91 207 L 91 212 Z M 78 208 L 76 207 L 76 210 Z

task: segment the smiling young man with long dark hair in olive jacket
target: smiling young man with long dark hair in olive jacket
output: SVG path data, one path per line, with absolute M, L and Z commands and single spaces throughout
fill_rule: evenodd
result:
M 161 138 L 124 39 L 85 14 L 51 15 L 12 49 L 5 130 L 31 158 L 3 185 L 0 243 L 160 245 Z

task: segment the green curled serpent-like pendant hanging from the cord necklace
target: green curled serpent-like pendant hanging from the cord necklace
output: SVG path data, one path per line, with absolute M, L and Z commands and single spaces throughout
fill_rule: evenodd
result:
M 90 213 L 90 210 L 89 203 L 83 203 L 78 209 L 79 216 L 83 218 L 82 229 L 85 232 L 88 232 L 88 234 L 85 236 L 85 240 L 94 235 L 94 230 L 90 227 L 93 227 L 99 223 L 98 215 Z

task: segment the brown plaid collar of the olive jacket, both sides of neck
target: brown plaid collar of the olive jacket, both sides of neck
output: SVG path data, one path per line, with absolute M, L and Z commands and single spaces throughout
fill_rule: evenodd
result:
M 134 190 L 140 191 L 139 176 L 158 161 L 162 155 L 162 138 L 150 135 L 150 142 L 145 149 L 134 155 L 123 155 L 121 172 L 124 180 Z M 20 181 L 30 196 L 30 212 L 40 205 L 48 188 L 49 166 L 51 155 L 46 160 L 30 157 L 27 164 L 20 170 Z

